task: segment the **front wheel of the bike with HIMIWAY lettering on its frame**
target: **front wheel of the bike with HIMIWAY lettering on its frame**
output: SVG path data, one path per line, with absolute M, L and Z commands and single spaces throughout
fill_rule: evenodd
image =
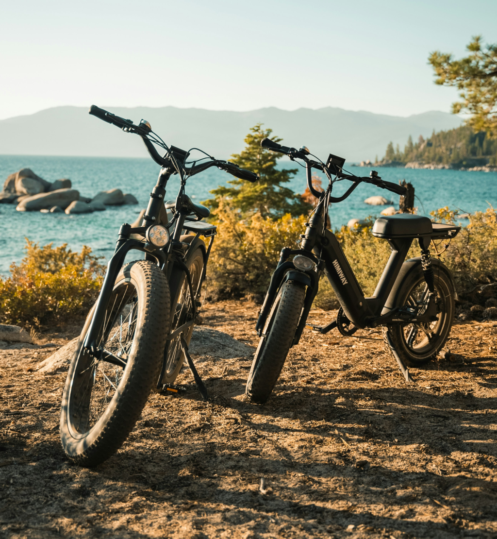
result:
M 274 300 L 262 331 L 245 394 L 263 404 L 271 395 L 297 330 L 305 300 L 305 286 L 286 281 Z

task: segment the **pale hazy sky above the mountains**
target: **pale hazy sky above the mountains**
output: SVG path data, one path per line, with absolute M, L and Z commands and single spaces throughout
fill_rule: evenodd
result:
M 496 20 L 496 0 L 4 0 L 0 119 L 92 103 L 449 112 L 428 54 L 495 43 Z

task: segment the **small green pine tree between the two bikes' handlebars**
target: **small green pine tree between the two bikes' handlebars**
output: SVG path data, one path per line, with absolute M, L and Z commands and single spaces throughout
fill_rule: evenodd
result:
M 231 161 L 240 168 L 255 172 L 260 176 L 260 181 L 249 183 L 243 179 L 233 179 L 228 183 L 233 187 L 220 185 L 211 192 L 214 198 L 205 201 L 211 206 L 213 213 L 219 207 L 221 198 L 228 198 L 233 208 L 239 209 L 243 215 L 260 213 L 263 217 L 277 219 L 290 213 L 296 217 L 307 213 L 312 209 L 311 204 L 304 201 L 302 195 L 298 195 L 282 184 L 288 183 L 297 173 L 297 169 L 276 168 L 276 160 L 279 155 L 274 151 L 261 148 L 261 140 L 265 137 L 272 141 L 280 142 L 283 139 L 271 136 L 272 129 L 262 129 L 262 124 L 257 123 L 250 128 L 250 133 L 245 137 L 245 149 L 240 154 L 233 154 Z

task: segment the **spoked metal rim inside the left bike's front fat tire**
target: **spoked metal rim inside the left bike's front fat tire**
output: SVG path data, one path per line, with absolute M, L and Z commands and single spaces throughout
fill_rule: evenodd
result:
M 128 363 L 138 317 L 136 285 L 126 279 L 116 285 L 96 338 L 106 350 Z M 87 436 L 122 390 L 125 367 L 97 360 L 81 345 L 68 399 L 68 427 L 74 438 Z

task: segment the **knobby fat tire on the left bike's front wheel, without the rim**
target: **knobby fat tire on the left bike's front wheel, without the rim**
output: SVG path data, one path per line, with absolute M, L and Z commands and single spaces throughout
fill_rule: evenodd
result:
M 122 378 L 106 411 L 87 432 L 76 431 L 71 423 L 71 418 L 74 417 L 71 413 L 72 406 L 79 402 L 74 396 L 75 404 L 71 404 L 71 391 L 80 354 L 84 354 L 82 344 L 93 317 L 93 309 L 81 332 L 66 379 L 60 418 L 61 442 L 69 459 L 81 466 L 96 466 L 121 447 L 140 417 L 162 365 L 170 316 L 167 279 L 157 265 L 139 260 L 130 262 L 121 269 L 114 289 L 123 286 L 124 282 L 134 283 L 138 303 L 137 321 L 127 366 L 122 371 Z M 80 395 L 83 395 L 83 391 L 79 392 L 78 397 L 84 404 L 88 397 Z

